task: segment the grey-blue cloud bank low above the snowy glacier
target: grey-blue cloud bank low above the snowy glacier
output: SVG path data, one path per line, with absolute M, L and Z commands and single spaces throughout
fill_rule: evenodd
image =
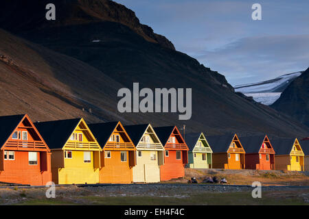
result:
M 193 56 L 232 85 L 271 79 L 309 66 L 309 34 L 241 38 Z

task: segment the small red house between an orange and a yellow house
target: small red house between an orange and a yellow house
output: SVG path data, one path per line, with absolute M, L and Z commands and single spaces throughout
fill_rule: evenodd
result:
M 246 169 L 275 170 L 275 151 L 267 136 L 241 137 L 246 151 Z

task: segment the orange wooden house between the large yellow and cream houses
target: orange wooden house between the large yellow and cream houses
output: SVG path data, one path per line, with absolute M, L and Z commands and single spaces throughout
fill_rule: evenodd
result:
M 89 125 L 102 146 L 100 183 L 132 183 L 135 145 L 120 122 Z

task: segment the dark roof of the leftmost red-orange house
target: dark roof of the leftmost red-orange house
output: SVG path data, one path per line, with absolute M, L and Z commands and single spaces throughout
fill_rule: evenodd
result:
M 25 117 L 23 115 L 0 116 L 0 148 L 10 138 L 17 125 Z

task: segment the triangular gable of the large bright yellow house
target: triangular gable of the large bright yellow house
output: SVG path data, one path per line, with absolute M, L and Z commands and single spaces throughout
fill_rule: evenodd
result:
M 73 145 L 70 142 L 71 141 L 70 138 L 73 135 L 73 133 L 75 133 L 76 131 L 82 131 L 83 135 L 87 138 L 89 142 L 85 145 L 78 144 L 77 149 L 80 149 L 80 150 L 88 149 L 89 151 L 101 151 L 100 144 L 95 139 L 95 136 L 93 136 L 93 133 L 89 129 L 87 123 L 84 121 L 84 118 L 80 118 L 80 121 L 78 122 L 76 127 L 73 129 L 73 131 L 71 131 L 71 134 L 69 135 L 69 138 L 67 139 L 67 142 L 65 142 L 64 146 L 62 146 L 62 150 L 70 149 L 71 147 L 73 147 Z

